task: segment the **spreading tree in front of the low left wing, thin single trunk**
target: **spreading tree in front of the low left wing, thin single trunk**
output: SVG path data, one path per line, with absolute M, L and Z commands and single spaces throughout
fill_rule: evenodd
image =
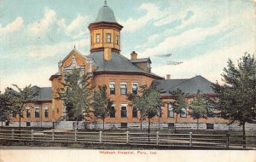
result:
M 12 88 L 7 88 L 5 93 L 9 95 L 9 109 L 13 113 L 19 115 L 19 130 L 21 118 L 23 117 L 23 113 L 28 107 L 28 103 L 32 102 L 33 98 L 38 95 L 38 91 L 32 89 L 31 85 L 26 86 L 21 89 L 18 85 L 13 84 L 16 90 Z M 31 107 L 31 106 L 30 106 Z

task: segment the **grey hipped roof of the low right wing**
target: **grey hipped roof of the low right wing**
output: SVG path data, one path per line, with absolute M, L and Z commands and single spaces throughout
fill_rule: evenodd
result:
M 186 79 L 155 80 L 154 85 L 160 90 L 161 95 L 171 95 L 173 90 L 182 90 L 187 95 L 215 94 L 212 90 L 212 83 L 200 75 Z

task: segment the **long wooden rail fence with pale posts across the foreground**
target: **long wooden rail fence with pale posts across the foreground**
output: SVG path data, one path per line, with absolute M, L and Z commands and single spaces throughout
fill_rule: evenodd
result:
M 34 142 L 78 142 L 122 145 L 165 146 L 180 148 L 256 149 L 256 136 L 164 134 L 120 132 L 84 132 L 55 130 L 0 130 L 0 140 Z

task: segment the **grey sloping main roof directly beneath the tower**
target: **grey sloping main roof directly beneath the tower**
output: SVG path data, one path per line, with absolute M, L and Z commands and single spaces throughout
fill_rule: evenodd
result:
M 139 72 L 145 73 L 155 78 L 160 78 L 159 76 L 145 72 L 142 69 L 136 67 L 128 60 L 125 56 L 120 55 L 118 52 L 112 51 L 112 58 L 110 61 L 105 61 L 103 58 L 103 51 L 92 52 L 87 57 L 92 58 L 96 62 L 96 72 Z

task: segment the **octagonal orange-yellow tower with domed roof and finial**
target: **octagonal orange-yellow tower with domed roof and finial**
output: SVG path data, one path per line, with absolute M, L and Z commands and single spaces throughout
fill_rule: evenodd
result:
M 114 17 L 113 10 L 104 2 L 104 6 L 99 10 L 96 20 L 88 26 L 90 30 L 90 52 L 104 50 L 111 53 L 112 50 L 120 52 L 120 31 L 121 26 Z M 105 56 L 104 56 L 105 58 Z M 105 60 L 110 60 L 111 54 L 106 55 Z

